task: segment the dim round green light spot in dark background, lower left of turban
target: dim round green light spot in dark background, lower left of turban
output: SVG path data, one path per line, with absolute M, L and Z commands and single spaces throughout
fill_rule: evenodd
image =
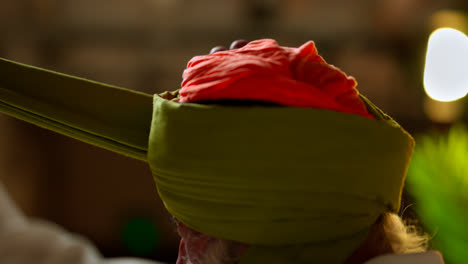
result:
M 146 218 L 132 218 L 123 227 L 125 247 L 135 256 L 153 255 L 160 242 L 157 226 Z

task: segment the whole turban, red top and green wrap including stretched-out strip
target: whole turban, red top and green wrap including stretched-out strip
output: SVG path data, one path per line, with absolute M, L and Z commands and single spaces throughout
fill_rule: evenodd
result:
M 241 263 L 342 263 L 399 210 L 413 139 L 313 42 L 192 59 L 153 97 L 0 61 L 0 111 L 149 163 L 188 227 L 250 245 Z M 255 100 L 285 106 L 204 105 Z

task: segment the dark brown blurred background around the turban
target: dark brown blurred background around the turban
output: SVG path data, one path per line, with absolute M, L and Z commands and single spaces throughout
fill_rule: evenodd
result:
M 464 31 L 467 10 L 465 0 L 2 0 L 0 57 L 153 94 L 180 88 L 187 61 L 213 46 L 314 40 L 417 135 L 466 123 L 465 99 L 430 99 L 423 73 L 431 32 Z M 87 236 L 106 256 L 177 256 L 142 162 L 0 115 L 0 179 L 26 214 Z

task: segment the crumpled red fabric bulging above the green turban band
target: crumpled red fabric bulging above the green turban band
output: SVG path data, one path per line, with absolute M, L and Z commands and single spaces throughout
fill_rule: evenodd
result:
M 327 64 L 312 41 L 288 48 L 262 39 L 191 59 L 183 73 L 180 102 L 258 100 L 373 118 L 356 85 L 354 78 Z

